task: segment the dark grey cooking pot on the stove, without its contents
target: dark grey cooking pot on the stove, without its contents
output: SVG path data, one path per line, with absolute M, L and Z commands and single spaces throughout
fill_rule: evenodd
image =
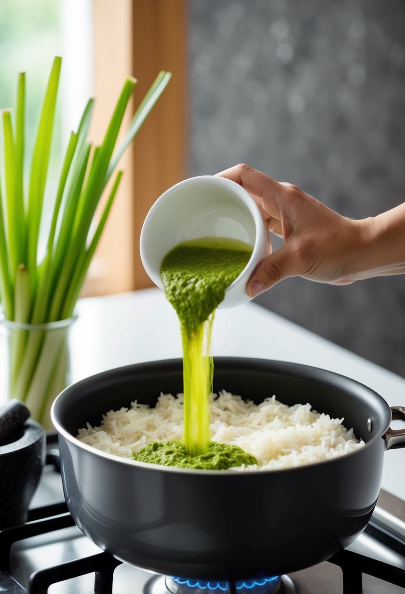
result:
M 182 361 L 113 369 L 64 390 L 52 409 L 62 480 L 78 527 L 126 563 L 182 577 L 248 579 L 290 573 L 349 545 L 374 510 L 384 450 L 403 447 L 390 409 L 373 390 L 314 367 L 217 358 L 214 391 L 287 405 L 309 402 L 344 417 L 366 445 L 295 469 L 238 472 L 176 469 L 122 459 L 78 441 L 78 429 L 137 399 L 154 406 L 182 392 Z M 391 410 L 394 415 L 391 415 Z

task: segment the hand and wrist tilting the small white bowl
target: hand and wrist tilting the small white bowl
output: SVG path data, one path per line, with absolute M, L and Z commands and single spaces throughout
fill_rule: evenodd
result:
M 217 175 L 242 185 L 254 197 L 268 228 L 284 239 L 283 246 L 255 268 L 246 286 L 249 296 L 292 276 L 345 285 L 405 271 L 405 205 L 375 219 L 353 220 L 248 165 Z M 394 215 L 385 220 L 389 213 Z M 379 252 L 381 241 L 387 239 L 387 223 L 393 228 L 392 249 Z

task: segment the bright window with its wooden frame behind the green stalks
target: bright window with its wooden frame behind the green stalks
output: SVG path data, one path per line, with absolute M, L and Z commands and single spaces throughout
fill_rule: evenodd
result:
M 173 74 L 122 158 L 124 176 L 83 295 L 151 285 L 139 257 L 141 226 L 154 200 L 185 176 L 185 23 L 185 0 L 0 2 L 0 108 L 14 105 L 17 72 L 26 71 L 31 146 L 53 56 L 62 56 L 46 201 L 55 191 L 69 132 L 77 128 L 88 98 L 96 99 L 90 136 L 97 143 L 128 74 L 138 79 L 135 106 L 160 70 Z

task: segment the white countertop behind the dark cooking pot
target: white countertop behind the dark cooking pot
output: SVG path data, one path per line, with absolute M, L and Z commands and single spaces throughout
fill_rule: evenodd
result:
M 179 321 L 160 289 L 81 299 L 72 328 L 72 381 L 106 369 L 182 356 Z M 254 304 L 217 309 L 212 354 L 330 369 L 405 406 L 405 378 Z M 398 428 L 398 427 L 397 427 Z M 405 500 L 405 451 L 387 451 L 382 488 Z

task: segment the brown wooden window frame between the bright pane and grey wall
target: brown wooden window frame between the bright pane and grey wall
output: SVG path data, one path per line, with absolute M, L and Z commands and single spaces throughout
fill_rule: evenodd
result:
M 160 70 L 167 88 L 122 157 L 115 204 L 94 255 L 83 296 L 152 286 L 142 266 L 139 237 L 162 192 L 186 176 L 186 0 L 93 0 L 94 123 L 100 142 L 125 77 L 137 78 L 123 129 Z

